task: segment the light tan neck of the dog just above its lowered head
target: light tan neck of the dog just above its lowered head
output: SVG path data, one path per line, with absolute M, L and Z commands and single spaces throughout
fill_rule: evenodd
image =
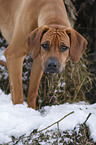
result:
M 54 6 L 55 5 L 55 6 Z M 63 25 L 70 27 L 70 22 L 67 17 L 65 6 L 54 4 L 49 5 L 49 3 L 44 5 L 39 13 L 38 17 L 38 27 L 42 25 Z M 66 21 L 65 21 L 66 20 Z

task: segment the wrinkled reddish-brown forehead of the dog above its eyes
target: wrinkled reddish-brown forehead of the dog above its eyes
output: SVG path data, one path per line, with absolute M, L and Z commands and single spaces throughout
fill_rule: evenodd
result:
M 54 43 L 69 43 L 69 37 L 64 29 L 50 28 L 43 36 L 42 42 L 51 41 Z

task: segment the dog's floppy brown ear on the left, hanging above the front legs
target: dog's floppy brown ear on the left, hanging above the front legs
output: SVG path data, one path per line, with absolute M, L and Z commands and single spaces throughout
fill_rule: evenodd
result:
M 31 51 L 32 59 L 35 59 L 40 52 L 40 42 L 43 35 L 49 30 L 49 27 L 44 25 L 33 30 L 27 37 L 27 46 Z

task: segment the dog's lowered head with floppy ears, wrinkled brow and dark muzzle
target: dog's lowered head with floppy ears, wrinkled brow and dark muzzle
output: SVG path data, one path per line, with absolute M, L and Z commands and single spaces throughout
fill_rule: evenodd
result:
M 44 25 L 28 35 L 27 45 L 33 59 L 41 57 L 44 72 L 60 73 L 70 57 L 79 61 L 87 41 L 71 27 Z

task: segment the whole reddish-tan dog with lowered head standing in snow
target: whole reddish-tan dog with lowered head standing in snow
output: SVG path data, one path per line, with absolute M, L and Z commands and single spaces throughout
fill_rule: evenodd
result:
M 70 58 L 79 61 L 87 46 L 71 27 L 63 0 L 0 0 L 0 30 L 9 42 L 4 55 L 13 104 L 23 103 L 22 66 L 31 52 L 27 103 L 34 109 L 43 72 L 61 73 Z

